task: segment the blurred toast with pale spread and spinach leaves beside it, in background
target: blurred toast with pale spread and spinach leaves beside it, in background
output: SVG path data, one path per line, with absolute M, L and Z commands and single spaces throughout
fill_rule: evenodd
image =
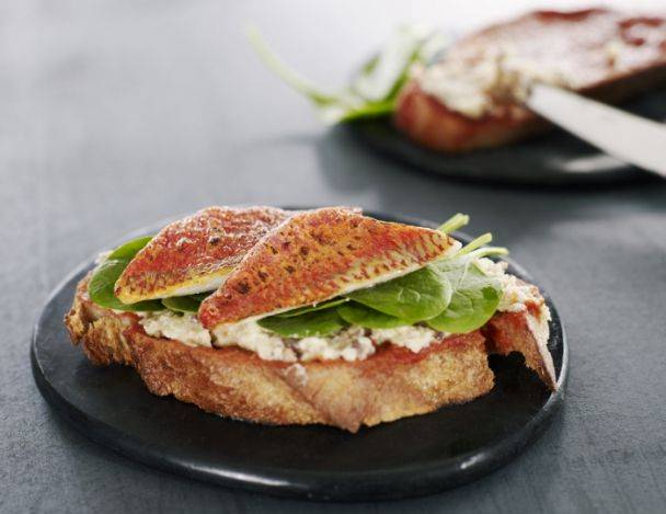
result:
M 524 106 L 535 82 L 611 103 L 666 82 L 666 19 L 607 9 L 535 11 L 451 45 L 403 27 L 336 95 L 314 89 L 256 35 L 253 41 L 324 119 L 392 116 L 409 138 L 446 152 L 496 147 L 548 128 Z

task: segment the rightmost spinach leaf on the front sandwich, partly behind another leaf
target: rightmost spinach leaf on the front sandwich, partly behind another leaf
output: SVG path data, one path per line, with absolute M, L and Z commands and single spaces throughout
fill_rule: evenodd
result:
M 500 281 L 486 276 L 471 259 L 456 259 L 440 269 L 453 285 L 451 302 L 427 324 L 441 332 L 467 333 L 483 327 L 502 298 Z

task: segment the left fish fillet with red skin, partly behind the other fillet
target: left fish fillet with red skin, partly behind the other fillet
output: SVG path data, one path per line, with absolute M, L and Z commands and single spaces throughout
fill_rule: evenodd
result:
M 124 304 L 216 289 L 245 253 L 294 212 L 207 207 L 164 227 L 115 285 Z

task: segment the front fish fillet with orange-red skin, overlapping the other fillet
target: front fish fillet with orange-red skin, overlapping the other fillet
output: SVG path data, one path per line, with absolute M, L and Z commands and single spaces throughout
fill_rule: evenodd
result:
M 208 328 L 318 304 L 423 267 L 459 243 L 437 230 L 330 207 L 292 216 L 206 298 Z

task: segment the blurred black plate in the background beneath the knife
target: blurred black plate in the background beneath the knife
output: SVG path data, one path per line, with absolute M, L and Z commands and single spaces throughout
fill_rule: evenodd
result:
M 623 105 L 629 112 L 666 121 L 666 90 L 651 92 Z M 651 175 L 555 129 L 514 145 L 455 156 L 423 148 L 388 118 L 347 124 L 371 148 L 424 171 L 456 179 L 521 185 L 589 185 L 646 180 Z

